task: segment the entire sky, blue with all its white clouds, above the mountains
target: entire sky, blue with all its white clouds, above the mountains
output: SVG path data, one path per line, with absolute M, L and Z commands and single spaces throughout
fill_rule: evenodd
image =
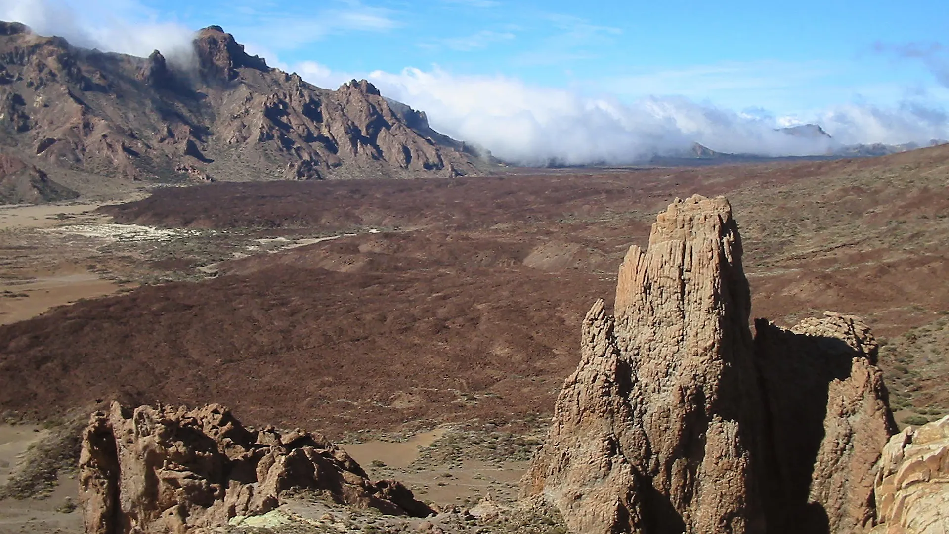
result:
M 764 139 L 807 122 L 842 143 L 949 138 L 945 0 L 0 0 L 0 15 L 138 54 L 216 24 L 314 84 L 368 77 L 450 135 L 495 151 L 521 143 L 540 159 L 602 143 L 601 134 L 642 150 L 685 139 L 730 151 L 825 149 Z M 486 131 L 486 115 L 530 143 Z M 550 146 L 560 118 L 570 147 Z

